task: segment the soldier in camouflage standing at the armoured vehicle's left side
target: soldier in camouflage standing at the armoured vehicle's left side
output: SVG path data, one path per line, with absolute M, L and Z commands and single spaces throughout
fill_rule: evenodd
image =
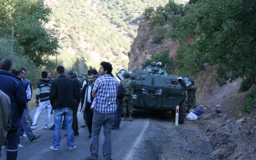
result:
M 124 72 L 123 73 L 123 80 L 121 81 L 121 84 L 126 87 L 126 94 L 123 98 L 123 120 L 127 120 L 127 108 L 129 109 L 129 121 L 132 121 L 132 114 L 133 114 L 133 91 L 136 88 L 135 83 L 129 79 L 130 73 Z

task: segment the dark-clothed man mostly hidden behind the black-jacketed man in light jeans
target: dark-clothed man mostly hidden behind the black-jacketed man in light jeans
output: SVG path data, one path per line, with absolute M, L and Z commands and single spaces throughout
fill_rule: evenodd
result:
M 76 90 L 77 90 L 77 95 L 78 95 L 77 98 L 76 98 L 76 101 L 77 101 L 78 105 L 76 105 L 72 108 L 72 110 L 73 110 L 72 129 L 74 131 L 74 136 L 79 136 L 79 132 L 78 132 L 79 128 L 78 128 L 78 121 L 77 121 L 77 110 L 78 110 L 78 107 L 79 107 L 80 97 L 81 97 L 81 82 L 79 81 L 79 79 L 77 79 L 76 75 L 74 75 L 72 70 L 66 70 L 65 71 L 65 76 L 73 79 L 75 84 L 76 84 Z

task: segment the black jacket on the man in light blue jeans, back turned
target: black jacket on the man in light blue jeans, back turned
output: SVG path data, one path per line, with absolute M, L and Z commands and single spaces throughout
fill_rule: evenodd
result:
M 76 84 L 73 79 L 60 75 L 51 82 L 50 102 L 53 109 L 78 105 Z

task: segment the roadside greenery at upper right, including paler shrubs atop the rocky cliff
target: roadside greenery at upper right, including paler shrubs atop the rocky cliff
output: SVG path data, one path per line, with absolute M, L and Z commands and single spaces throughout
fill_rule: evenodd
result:
M 165 7 L 149 7 L 143 14 L 156 30 L 155 42 L 163 37 L 180 41 L 177 72 L 191 76 L 206 65 L 214 66 L 220 86 L 242 78 L 239 92 L 249 90 L 243 112 L 250 113 L 256 103 L 255 10 L 256 2 L 250 0 L 201 0 L 185 5 L 169 1 Z M 165 24 L 174 29 L 159 34 Z M 189 35 L 192 44 L 182 47 Z

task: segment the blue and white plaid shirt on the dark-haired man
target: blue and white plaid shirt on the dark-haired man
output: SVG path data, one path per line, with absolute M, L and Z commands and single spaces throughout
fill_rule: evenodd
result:
M 96 92 L 96 96 L 92 102 L 91 109 L 100 113 L 114 113 L 116 111 L 118 81 L 105 74 L 101 78 L 97 78 L 92 89 Z

